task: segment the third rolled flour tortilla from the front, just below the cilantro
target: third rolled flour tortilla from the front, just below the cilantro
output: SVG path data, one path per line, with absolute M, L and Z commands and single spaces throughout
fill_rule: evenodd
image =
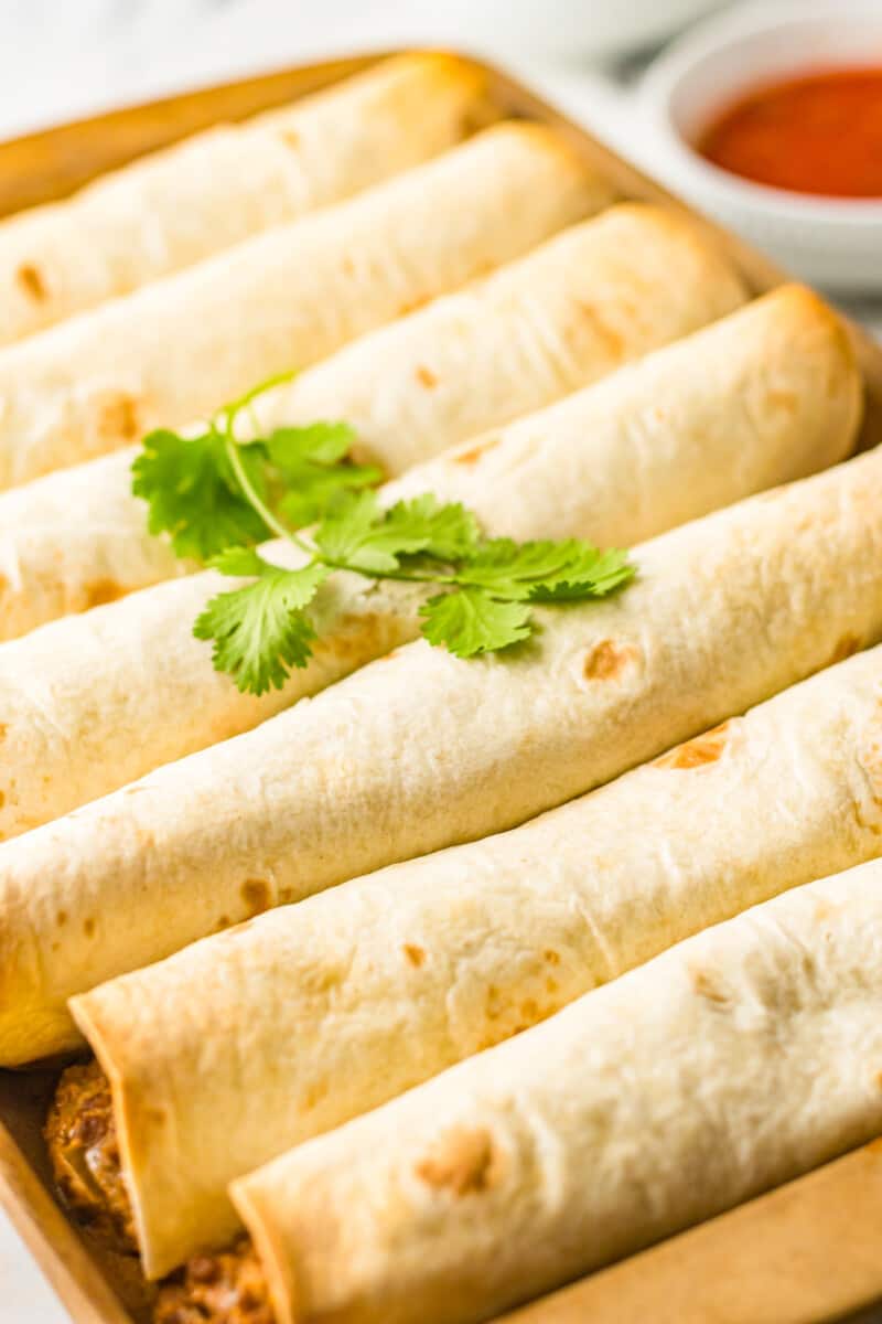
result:
M 424 639 L 0 845 L 0 1061 L 66 1001 L 346 878 L 512 828 L 882 638 L 882 451 L 643 543 L 508 655 Z M 185 583 L 185 581 L 181 581 Z

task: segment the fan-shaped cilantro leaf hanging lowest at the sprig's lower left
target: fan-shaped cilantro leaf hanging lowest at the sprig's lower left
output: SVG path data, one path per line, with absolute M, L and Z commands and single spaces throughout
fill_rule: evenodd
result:
M 193 626 L 197 639 L 212 639 L 217 671 L 231 675 L 242 692 L 282 688 L 291 667 L 307 665 L 316 632 L 304 612 L 331 571 L 312 563 L 284 571 L 261 557 L 254 584 L 218 593 Z M 227 556 L 226 564 L 245 564 Z M 235 569 L 234 573 L 239 573 Z

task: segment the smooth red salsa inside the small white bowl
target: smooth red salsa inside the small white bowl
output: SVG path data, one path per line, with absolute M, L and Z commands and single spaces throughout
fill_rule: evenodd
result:
M 758 89 L 714 120 L 697 146 L 715 166 L 759 184 L 882 199 L 882 66 Z

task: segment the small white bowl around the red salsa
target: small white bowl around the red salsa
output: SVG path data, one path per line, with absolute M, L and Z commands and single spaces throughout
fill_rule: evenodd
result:
M 702 24 L 643 82 L 656 175 L 795 275 L 849 294 L 882 291 L 882 201 L 754 184 L 692 147 L 719 110 L 756 85 L 861 64 L 882 64 L 882 0 L 760 0 Z

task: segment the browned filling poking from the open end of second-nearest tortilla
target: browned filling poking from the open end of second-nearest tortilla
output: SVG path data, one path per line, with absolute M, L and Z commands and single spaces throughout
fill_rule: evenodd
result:
M 45 1136 L 58 1193 L 77 1222 L 114 1250 L 136 1254 L 110 1086 L 97 1062 L 62 1074 Z

